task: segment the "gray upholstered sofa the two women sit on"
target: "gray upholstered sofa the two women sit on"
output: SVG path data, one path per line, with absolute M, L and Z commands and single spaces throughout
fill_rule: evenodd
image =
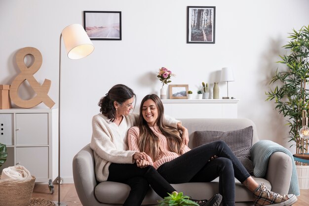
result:
M 193 148 L 193 133 L 196 130 L 230 131 L 253 126 L 253 144 L 259 141 L 255 124 L 248 119 L 181 119 L 188 128 L 190 143 Z M 123 171 L 125 172 L 125 171 Z M 292 160 L 282 152 L 270 156 L 267 174 L 264 178 L 255 178 L 264 182 L 273 192 L 287 194 L 292 175 Z M 82 148 L 73 159 L 73 176 L 79 200 L 83 206 L 121 206 L 130 187 L 117 182 L 97 182 L 94 173 L 93 151 L 89 145 Z M 253 206 L 253 195 L 235 179 L 236 206 Z M 219 193 L 218 178 L 207 183 L 172 184 L 177 190 L 193 199 L 209 199 Z M 150 188 L 143 205 L 156 205 L 161 198 Z

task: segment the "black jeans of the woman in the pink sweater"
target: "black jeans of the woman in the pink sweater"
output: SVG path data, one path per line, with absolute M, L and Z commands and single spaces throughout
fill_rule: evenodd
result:
M 211 160 L 214 156 L 218 158 Z M 224 141 L 196 147 L 164 163 L 157 171 L 169 183 L 210 182 L 219 176 L 219 192 L 223 196 L 223 206 L 235 205 L 234 177 L 242 183 L 250 176 Z

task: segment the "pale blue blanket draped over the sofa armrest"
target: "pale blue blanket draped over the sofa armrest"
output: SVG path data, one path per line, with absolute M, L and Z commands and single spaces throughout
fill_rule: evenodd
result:
M 292 178 L 291 178 L 291 184 L 289 188 L 289 194 L 294 194 L 296 196 L 300 195 L 299 185 L 298 185 L 298 176 L 297 176 L 297 170 L 296 165 L 294 162 L 294 158 L 292 153 L 282 147 L 281 145 L 270 141 L 270 140 L 260 140 L 257 143 L 255 143 L 251 148 L 252 153 L 252 162 L 254 165 L 253 173 L 256 177 L 264 177 L 266 174 L 268 161 L 270 159 L 270 156 L 274 152 L 283 152 L 290 156 L 292 161 Z M 261 158 L 263 157 L 263 158 Z

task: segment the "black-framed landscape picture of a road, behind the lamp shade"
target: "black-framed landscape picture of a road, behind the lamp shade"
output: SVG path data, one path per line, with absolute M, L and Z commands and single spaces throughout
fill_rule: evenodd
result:
M 121 40 L 121 11 L 84 11 L 90 40 Z

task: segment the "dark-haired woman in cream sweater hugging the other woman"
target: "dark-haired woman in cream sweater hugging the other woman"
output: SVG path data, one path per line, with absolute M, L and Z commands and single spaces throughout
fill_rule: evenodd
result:
M 123 206 L 140 206 L 149 185 L 161 197 L 176 191 L 146 161 L 144 152 L 128 150 L 127 131 L 137 125 L 139 115 L 130 114 L 135 94 L 132 89 L 117 84 L 99 102 L 101 114 L 92 118 L 92 138 L 90 147 L 94 151 L 96 179 L 128 184 L 131 187 Z M 183 129 L 178 121 L 165 118 L 167 125 Z M 188 131 L 188 130 L 187 130 Z M 135 164 L 136 163 L 136 164 Z M 220 195 L 211 201 L 192 200 L 202 206 L 218 206 Z M 220 202 L 219 202 L 220 204 Z

